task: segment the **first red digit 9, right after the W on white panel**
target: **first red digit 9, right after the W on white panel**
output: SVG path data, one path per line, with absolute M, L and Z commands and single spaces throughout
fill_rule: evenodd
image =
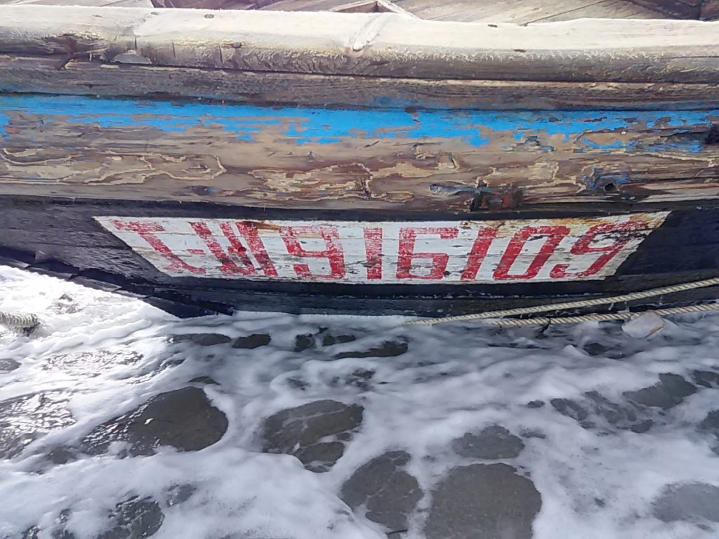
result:
M 335 226 L 280 226 L 280 236 L 287 246 L 287 252 L 295 257 L 329 260 L 329 275 L 313 275 L 307 264 L 294 264 L 295 272 L 299 277 L 306 279 L 344 278 L 344 251 Z M 321 236 L 326 249 L 324 251 L 306 251 L 297 236 Z

